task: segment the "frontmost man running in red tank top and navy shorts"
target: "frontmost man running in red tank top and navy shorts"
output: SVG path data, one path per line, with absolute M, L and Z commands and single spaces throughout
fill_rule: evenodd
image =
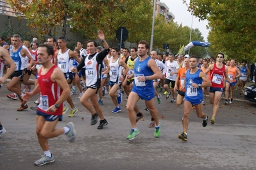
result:
M 53 153 L 49 150 L 47 139 L 65 134 L 71 143 L 76 140 L 74 123 L 69 122 L 63 128 L 56 128 L 58 121 L 62 120 L 63 102 L 67 100 L 71 90 L 65 81 L 62 70 L 51 63 L 53 56 L 51 45 L 39 45 L 38 61 L 42 66 L 38 69 L 38 85 L 31 93 L 25 93 L 22 97 L 22 100 L 27 101 L 40 92 L 40 105 L 35 120 L 37 121 L 38 143 L 44 151 L 44 157 L 35 162 L 36 166 L 43 166 L 55 161 Z

